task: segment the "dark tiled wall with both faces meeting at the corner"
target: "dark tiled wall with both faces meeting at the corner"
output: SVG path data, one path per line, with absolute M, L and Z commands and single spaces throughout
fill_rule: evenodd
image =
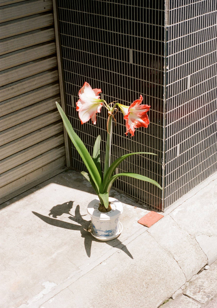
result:
M 151 3 L 150 3 L 151 2 Z M 103 111 L 97 125 L 80 124 L 75 103 L 87 81 L 109 103 L 130 104 L 142 94 L 151 105 L 147 129 L 126 137 L 118 113 L 112 159 L 154 152 L 122 163 L 155 186 L 122 178 L 115 187 L 152 209 L 167 208 L 217 169 L 216 1 L 57 0 L 68 115 L 91 151 L 98 134 L 105 149 Z M 74 148 L 72 167 L 84 166 Z

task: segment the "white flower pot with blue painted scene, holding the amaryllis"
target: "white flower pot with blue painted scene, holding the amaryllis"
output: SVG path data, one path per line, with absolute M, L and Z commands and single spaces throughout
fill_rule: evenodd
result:
M 109 241 L 118 237 L 122 231 L 122 224 L 119 221 L 123 212 L 120 201 L 109 197 L 112 210 L 108 213 L 99 211 L 99 199 L 94 199 L 87 206 L 87 213 L 91 217 L 91 234 L 100 241 Z

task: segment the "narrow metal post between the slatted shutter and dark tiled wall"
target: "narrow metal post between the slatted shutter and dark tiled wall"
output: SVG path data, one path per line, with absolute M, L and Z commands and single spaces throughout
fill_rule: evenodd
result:
M 59 84 L 60 84 L 60 99 L 61 99 L 61 107 L 63 111 L 66 113 L 66 99 L 65 99 L 65 91 L 64 91 L 64 81 L 63 81 L 63 69 L 62 69 L 62 56 L 61 56 L 61 48 L 60 48 L 60 34 L 59 34 L 59 23 L 58 23 L 58 13 L 57 13 L 57 5 L 56 0 L 52 0 L 53 2 L 53 18 L 54 18 L 54 30 L 55 30 L 55 42 L 56 42 L 56 55 L 57 55 L 57 65 L 58 65 L 58 73 L 59 73 Z M 67 131 L 63 125 L 64 130 L 64 144 L 65 144 L 65 153 L 66 153 L 66 166 L 71 166 L 71 159 L 69 153 L 69 138 Z

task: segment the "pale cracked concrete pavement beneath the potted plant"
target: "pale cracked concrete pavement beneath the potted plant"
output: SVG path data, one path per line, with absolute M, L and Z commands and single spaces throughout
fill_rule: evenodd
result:
M 157 308 L 217 259 L 217 174 L 150 228 L 137 222 L 148 208 L 110 196 L 124 212 L 122 234 L 108 242 L 84 230 L 95 195 L 79 172 L 1 206 L 1 308 Z

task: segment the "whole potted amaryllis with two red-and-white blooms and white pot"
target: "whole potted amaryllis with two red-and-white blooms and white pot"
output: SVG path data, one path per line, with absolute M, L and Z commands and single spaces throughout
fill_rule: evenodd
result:
M 118 108 L 122 111 L 126 121 L 126 135 L 129 132 L 131 136 L 134 136 L 135 128 L 148 127 L 149 118 L 147 112 L 149 111 L 150 106 L 141 104 L 143 100 L 142 95 L 140 95 L 140 98 L 135 100 L 130 106 L 125 106 L 118 102 L 107 104 L 104 99 L 100 98 L 100 92 L 101 89 L 92 89 L 89 83 L 85 82 L 83 87 L 78 92 L 79 100 L 76 103 L 76 110 L 78 111 L 81 124 L 84 124 L 91 119 L 92 123 L 95 125 L 96 115 L 97 113 L 100 113 L 101 107 L 105 107 L 107 109 L 107 143 L 104 164 L 101 164 L 100 159 L 100 135 L 95 140 L 91 155 L 82 140 L 72 128 L 72 125 L 60 105 L 57 102 L 56 105 L 63 119 L 66 131 L 68 132 L 72 143 L 74 144 L 88 170 L 88 173 L 84 171 L 81 173 L 91 183 L 98 196 L 98 199 L 91 201 L 87 207 L 87 212 L 91 215 L 92 235 L 100 240 L 108 240 L 117 237 L 121 233 L 122 227 L 119 223 L 119 216 L 122 213 L 122 205 L 118 200 L 109 197 L 110 188 L 118 177 L 130 176 L 138 180 L 152 183 L 160 189 L 162 188 L 156 181 L 143 175 L 131 172 L 114 174 L 118 165 L 127 157 L 135 154 L 156 155 L 154 153 L 128 153 L 119 157 L 112 164 L 110 164 L 112 126 L 114 115 Z M 103 168 L 101 167 L 102 165 Z

